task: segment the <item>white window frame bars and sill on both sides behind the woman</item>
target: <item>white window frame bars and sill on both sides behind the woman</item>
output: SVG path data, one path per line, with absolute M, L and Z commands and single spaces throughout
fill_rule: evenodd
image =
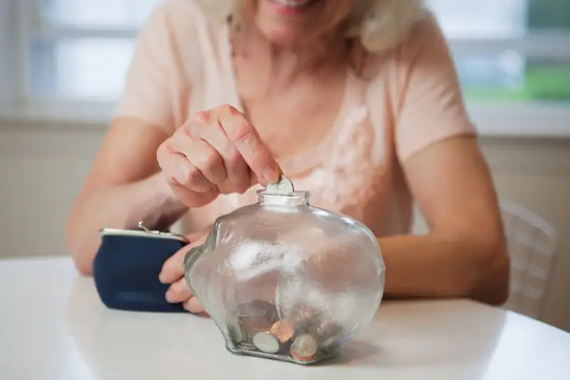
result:
M 31 94 L 31 51 L 34 37 L 58 38 L 136 38 L 138 28 L 81 28 L 55 26 L 43 20 L 37 3 L 41 0 L 9 0 L 9 9 L 16 12 L 16 94 L 15 102 L 0 108 L 0 118 L 33 118 L 40 120 L 76 120 L 108 123 L 115 101 L 68 101 L 42 98 Z M 35 23 L 35 26 L 33 25 Z M 514 50 L 528 58 L 554 58 L 570 62 L 570 31 L 540 31 L 514 38 L 453 38 L 447 43 L 455 55 L 504 53 Z M 5 55 L 6 56 L 6 55 Z M 529 137 L 570 138 L 570 101 L 568 106 L 539 102 L 513 102 L 491 106 L 466 100 L 467 112 L 482 135 L 523 135 Z M 73 110 L 73 111 L 71 111 Z M 71 111 L 71 113 L 70 113 Z

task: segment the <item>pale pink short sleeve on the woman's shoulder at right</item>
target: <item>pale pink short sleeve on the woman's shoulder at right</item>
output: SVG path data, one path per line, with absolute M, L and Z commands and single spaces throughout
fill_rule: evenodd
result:
M 411 31 L 402 46 L 398 65 L 404 66 L 403 92 L 395 124 L 400 161 L 440 140 L 475 135 L 450 49 L 432 15 Z

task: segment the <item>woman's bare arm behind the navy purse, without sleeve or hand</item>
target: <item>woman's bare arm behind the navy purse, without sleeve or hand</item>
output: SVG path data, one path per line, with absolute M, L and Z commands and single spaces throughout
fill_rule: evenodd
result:
M 68 250 L 82 274 L 91 274 L 101 228 L 132 229 L 143 221 L 164 229 L 187 211 L 157 165 L 157 148 L 168 137 L 134 118 L 113 121 L 66 222 Z

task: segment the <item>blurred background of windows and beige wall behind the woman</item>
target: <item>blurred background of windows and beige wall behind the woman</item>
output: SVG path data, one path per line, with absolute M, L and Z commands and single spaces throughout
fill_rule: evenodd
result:
M 63 223 L 159 1 L 0 0 L 0 257 L 66 255 Z M 570 1 L 428 3 L 499 195 L 557 232 L 539 318 L 570 331 Z

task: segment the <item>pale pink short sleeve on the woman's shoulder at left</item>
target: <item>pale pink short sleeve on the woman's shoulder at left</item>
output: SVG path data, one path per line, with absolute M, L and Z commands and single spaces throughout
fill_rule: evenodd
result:
M 166 5 L 161 4 L 140 29 L 115 117 L 173 128 L 171 47 Z

